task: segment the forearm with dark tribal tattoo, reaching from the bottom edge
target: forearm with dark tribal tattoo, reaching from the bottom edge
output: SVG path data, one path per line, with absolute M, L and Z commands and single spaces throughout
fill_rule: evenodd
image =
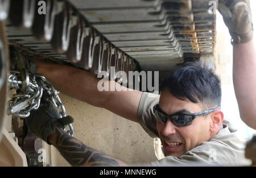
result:
M 60 154 L 73 166 L 117 166 L 118 160 L 94 150 L 81 143 L 73 136 L 56 127 L 54 146 Z

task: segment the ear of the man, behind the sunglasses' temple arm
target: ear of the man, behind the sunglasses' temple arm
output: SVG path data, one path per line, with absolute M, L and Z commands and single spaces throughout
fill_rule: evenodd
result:
M 210 132 L 213 134 L 218 133 L 218 130 L 220 130 L 220 126 L 222 125 L 224 119 L 224 114 L 220 109 L 214 111 L 211 116 L 210 121 Z

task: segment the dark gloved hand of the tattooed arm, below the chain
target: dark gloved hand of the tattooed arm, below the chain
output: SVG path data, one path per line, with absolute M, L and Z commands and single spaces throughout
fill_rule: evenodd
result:
M 55 127 L 59 126 L 64 129 L 65 125 L 73 122 L 71 116 L 60 118 L 57 107 L 49 100 L 44 93 L 38 110 L 31 111 L 30 116 L 26 118 L 28 128 L 39 138 L 48 144 L 48 136 L 55 133 Z

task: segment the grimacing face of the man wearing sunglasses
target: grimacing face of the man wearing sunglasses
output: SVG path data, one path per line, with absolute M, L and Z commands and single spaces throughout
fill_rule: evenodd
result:
M 204 110 L 200 104 L 172 96 L 168 89 L 161 93 L 159 106 L 168 115 L 199 113 Z M 156 127 L 164 148 L 164 155 L 181 156 L 195 148 L 197 144 L 209 141 L 210 118 L 211 113 L 207 117 L 198 116 L 193 119 L 192 125 L 184 127 L 175 126 L 170 119 L 167 119 L 164 124 L 157 122 Z

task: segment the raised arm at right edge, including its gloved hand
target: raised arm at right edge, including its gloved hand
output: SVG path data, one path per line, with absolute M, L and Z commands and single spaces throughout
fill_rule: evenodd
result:
M 256 129 L 256 53 L 249 0 L 219 0 L 233 44 L 233 81 L 240 116 Z

